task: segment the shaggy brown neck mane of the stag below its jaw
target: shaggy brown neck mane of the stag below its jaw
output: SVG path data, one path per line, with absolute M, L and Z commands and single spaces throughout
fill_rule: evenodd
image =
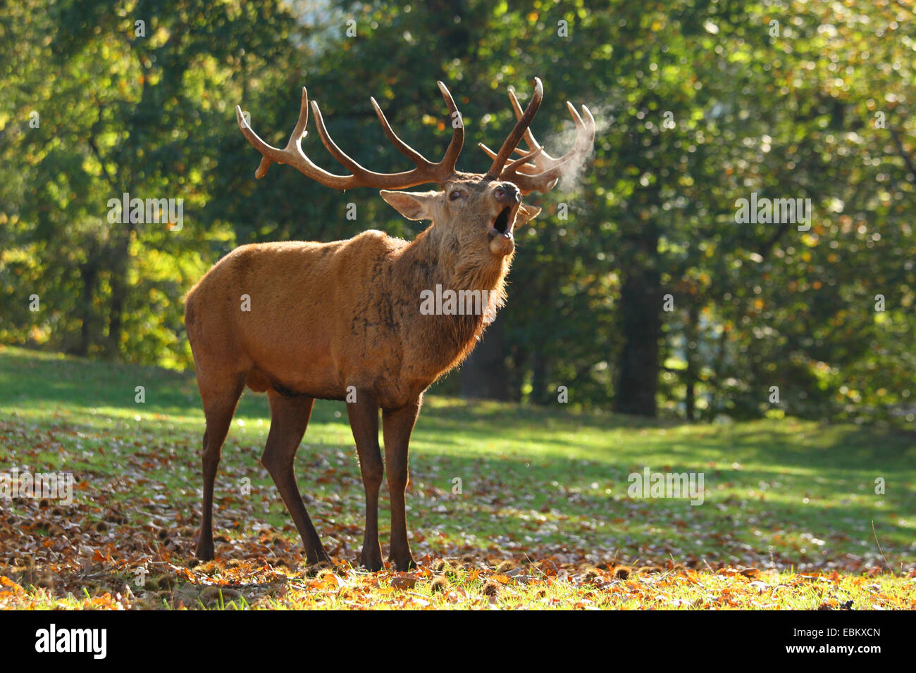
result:
M 506 302 L 505 278 L 511 261 L 512 255 L 496 257 L 486 245 L 479 250 L 463 250 L 456 238 L 432 225 L 398 255 L 396 265 L 400 273 L 395 277 L 409 278 L 404 289 L 414 298 L 418 308 L 420 293 L 423 290 L 435 293 L 439 285 L 443 292 L 447 289 L 485 292 L 492 315 Z M 482 314 L 420 318 L 431 347 L 442 353 L 446 371 L 460 364 L 474 350 L 487 324 Z

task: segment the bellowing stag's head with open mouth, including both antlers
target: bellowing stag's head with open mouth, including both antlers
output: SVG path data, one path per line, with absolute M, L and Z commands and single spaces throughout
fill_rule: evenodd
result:
M 255 172 L 256 178 L 262 178 L 267 168 L 276 162 L 289 164 L 334 190 L 380 188 L 382 198 L 404 217 L 409 220 L 431 220 L 431 229 L 436 232 L 443 249 L 460 250 L 463 254 L 470 253 L 478 258 L 490 255 L 497 261 L 514 251 L 515 227 L 529 222 L 540 212 L 540 208 L 523 204 L 522 196 L 532 191 L 547 192 L 553 189 L 565 172 L 581 165 L 594 145 L 594 117 L 584 105 L 580 116 L 572 103 L 566 103 L 576 125 L 573 148 L 562 157 L 554 158 L 540 147 L 529 129 L 543 98 L 540 79 L 535 78 L 534 81 L 534 95 L 524 112 L 515 93 L 509 90 L 509 100 L 518 121 L 498 152 L 481 144 L 493 159 L 493 164 L 485 173 L 464 173 L 455 169 L 464 144 L 464 127 L 452 94 L 442 81 L 438 82 L 439 90 L 455 123 L 452 141 L 438 163 L 432 163 L 401 140 L 391 130 L 375 98 L 369 99 L 388 140 L 414 164 L 415 168 L 401 173 L 376 173 L 363 168 L 347 156 L 328 135 L 321 110 L 315 101 L 311 102 L 311 110 L 315 115 L 315 125 L 322 144 L 332 157 L 350 171 L 350 175 L 334 175 L 313 164 L 301 147 L 302 138 L 307 135 L 305 126 L 309 120 L 309 97 L 304 87 L 299 122 L 283 149 L 271 147 L 261 140 L 245 123 L 242 110 L 237 105 L 235 116 L 248 142 L 262 155 Z M 522 137 L 529 147 L 527 152 L 518 149 Z M 509 161 L 513 152 L 521 157 Z M 436 183 L 440 190 L 397 191 L 425 183 Z

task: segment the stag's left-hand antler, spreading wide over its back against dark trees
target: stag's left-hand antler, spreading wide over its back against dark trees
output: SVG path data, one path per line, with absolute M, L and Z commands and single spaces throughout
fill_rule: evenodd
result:
M 448 88 L 441 81 L 437 83 L 439 84 L 440 92 L 442 92 L 442 98 L 449 108 L 449 114 L 453 116 L 458 112 L 458 108 L 455 106 L 452 94 L 449 93 Z M 318 128 L 318 136 L 321 137 L 322 144 L 327 148 L 328 152 L 331 153 L 331 156 L 343 164 L 344 168 L 347 168 L 351 175 L 334 175 L 313 164 L 311 159 L 306 157 L 302 152 L 302 138 L 308 134 L 305 130 L 305 125 L 308 124 L 309 121 L 309 94 L 306 92 L 305 87 L 302 87 L 302 103 L 299 121 L 292 131 L 292 136 L 289 136 L 287 146 L 283 149 L 268 145 L 261 140 L 254 130 L 245 122 L 242 109 L 238 105 L 235 106 L 235 119 L 238 121 L 239 128 L 242 129 L 242 133 L 248 139 L 248 142 L 263 156 L 261 158 L 261 163 L 255 171 L 255 177 L 263 178 L 264 174 L 267 173 L 267 168 L 270 168 L 270 165 L 273 163 L 278 163 L 289 164 L 289 166 L 299 170 L 300 173 L 334 190 L 350 190 L 354 187 L 402 190 L 427 182 L 438 182 L 442 184 L 454 174 L 455 163 L 458 161 L 458 155 L 461 154 L 464 145 L 464 126 L 460 122 L 460 117 L 458 125 L 453 124 L 454 132 L 452 134 L 452 142 L 449 143 L 448 149 L 445 150 L 445 156 L 442 157 L 442 161 L 439 163 L 432 163 L 430 160 L 423 157 L 420 152 L 401 140 L 397 134 L 391 130 L 391 125 L 388 124 L 388 120 L 385 118 L 385 114 L 382 113 L 382 109 L 378 106 L 378 103 L 376 103 L 376 99 L 370 98 L 369 100 L 376 110 L 378 121 L 381 123 L 382 130 L 385 132 L 388 140 L 398 148 L 401 154 L 408 157 L 416 168 L 401 173 L 376 173 L 368 168 L 363 168 L 356 163 L 353 158 L 348 157 L 340 147 L 337 147 L 337 144 L 334 143 L 331 136 L 328 135 L 328 131 L 324 127 L 322 112 L 318 109 L 318 103 L 315 101 L 311 102 L 311 111 L 315 114 L 315 125 Z

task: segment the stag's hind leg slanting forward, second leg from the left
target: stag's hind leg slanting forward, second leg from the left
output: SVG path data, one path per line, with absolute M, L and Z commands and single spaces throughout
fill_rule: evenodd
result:
M 330 563 L 331 559 L 322 546 L 318 531 L 302 503 L 296 474 L 293 472 L 293 461 L 302 435 L 309 425 L 315 398 L 282 396 L 274 390 L 268 390 L 267 397 L 270 401 L 270 432 L 267 434 L 267 447 L 261 456 L 261 464 L 277 484 L 280 497 L 299 530 L 306 560 L 310 564 L 322 561 Z

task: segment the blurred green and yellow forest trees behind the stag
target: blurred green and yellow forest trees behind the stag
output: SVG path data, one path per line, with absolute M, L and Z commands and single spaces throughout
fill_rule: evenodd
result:
M 564 103 L 586 103 L 594 160 L 529 197 L 544 212 L 518 232 L 508 306 L 439 390 L 909 424 L 914 70 L 910 0 L 6 2 L 0 342 L 186 368 L 182 297 L 235 245 L 425 226 L 375 190 L 284 167 L 256 181 L 236 103 L 282 146 L 306 85 L 344 151 L 402 170 L 368 97 L 438 157 L 441 79 L 467 128 L 459 168 L 482 171 L 476 143 L 514 122 L 507 87 L 524 104 L 537 75 L 535 135 L 564 152 Z M 342 172 L 313 129 L 306 153 Z M 183 199 L 181 230 L 109 223 L 124 192 Z M 751 192 L 811 199 L 811 229 L 736 223 Z

